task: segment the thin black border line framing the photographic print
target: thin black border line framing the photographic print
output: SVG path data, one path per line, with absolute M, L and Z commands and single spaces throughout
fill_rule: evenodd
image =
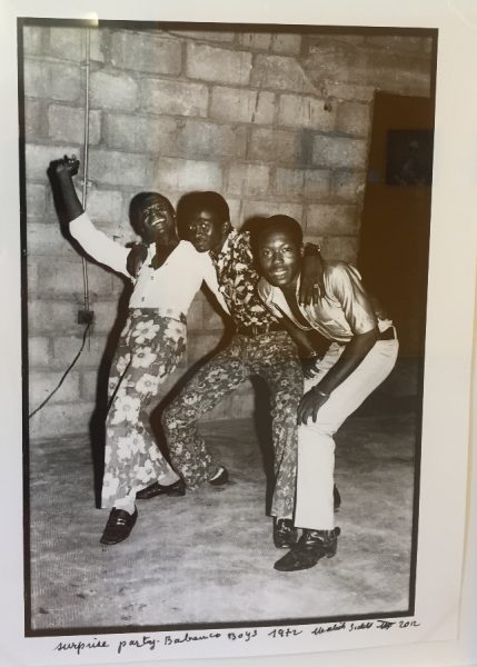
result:
M 56 636 L 77 636 L 77 635 L 107 635 L 125 633 L 145 633 L 145 631 L 177 631 L 177 630 L 208 630 L 239 627 L 279 627 L 279 626 L 306 626 L 317 624 L 331 624 L 341 621 L 388 619 L 399 617 L 411 617 L 415 615 L 416 607 L 416 564 L 418 552 L 418 532 L 419 532 L 419 497 L 420 497 L 420 475 L 421 475 L 421 432 L 423 432 L 423 399 L 424 399 L 424 365 L 425 354 L 419 359 L 418 365 L 418 409 L 416 411 L 415 426 L 415 462 L 414 462 L 414 501 L 413 501 L 413 527 L 411 527 L 411 549 L 409 567 L 409 606 L 407 609 L 369 614 L 356 614 L 344 616 L 327 616 L 319 618 L 277 618 L 270 620 L 249 620 L 227 621 L 227 623 L 205 623 L 205 624 L 179 624 L 179 625 L 122 625 L 122 626 L 86 626 L 86 627 L 62 627 L 54 629 L 34 630 L 31 627 L 31 569 L 30 569 L 30 439 L 29 439 L 29 359 L 28 359 L 28 271 L 27 271 L 27 197 L 26 197 L 26 136 L 24 136 L 24 80 L 23 80 L 23 28 L 29 26 L 38 27 L 63 27 L 63 28 L 112 28 L 112 29 L 135 29 L 135 30 L 196 30 L 196 31 L 247 31 L 247 32 L 300 32 L 311 33 L 317 31 L 327 34 L 365 34 L 365 36 L 414 36 L 433 38 L 431 56 L 431 84 L 430 99 L 436 103 L 436 72 L 437 72 L 437 28 L 394 28 L 394 27 L 364 27 L 364 26 L 327 26 L 327 24 L 300 24 L 300 23 L 223 23 L 223 22 L 189 22 L 189 21 L 142 21 L 142 20 L 111 20 L 100 19 L 99 23 L 88 19 L 58 19 L 58 18 L 17 18 L 17 44 L 18 44 L 18 104 L 19 104 L 19 183 L 20 183 L 20 242 L 21 242 L 21 352 L 22 352 L 22 458 L 23 458 L 23 599 L 24 599 L 24 637 L 56 637 Z M 429 251 L 429 243 L 428 243 Z M 428 256 L 426 257 L 428 262 Z M 427 288 L 428 289 L 428 288 Z M 423 303 L 423 310 L 427 308 Z M 426 337 L 426 322 L 424 322 L 423 340 Z M 423 344 L 424 345 L 424 344 Z M 424 352 L 424 350 L 423 350 Z

